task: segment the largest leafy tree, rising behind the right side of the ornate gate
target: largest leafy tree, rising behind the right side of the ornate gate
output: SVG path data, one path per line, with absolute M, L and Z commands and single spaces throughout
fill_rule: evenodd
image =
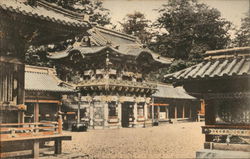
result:
M 155 26 L 166 33 L 157 35 L 150 48 L 186 66 L 199 62 L 206 50 L 222 49 L 230 42 L 231 23 L 217 9 L 197 0 L 169 0 L 158 11 Z

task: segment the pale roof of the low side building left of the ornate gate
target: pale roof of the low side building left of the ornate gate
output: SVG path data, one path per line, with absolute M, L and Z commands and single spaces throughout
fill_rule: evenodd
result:
M 59 86 L 61 81 L 54 70 L 47 67 L 25 66 L 26 91 L 73 92 L 73 89 Z

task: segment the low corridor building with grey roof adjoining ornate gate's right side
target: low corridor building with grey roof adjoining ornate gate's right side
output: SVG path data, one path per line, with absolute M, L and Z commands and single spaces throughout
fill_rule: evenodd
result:
M 157 92 L 152 95 L 152 101 L 154 123 L 157 124 L 198 121 L 199 112 L 204 106 L 182 87 L 159 83 Z

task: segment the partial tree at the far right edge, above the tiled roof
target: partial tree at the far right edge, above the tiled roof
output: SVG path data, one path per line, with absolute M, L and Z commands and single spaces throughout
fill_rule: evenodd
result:
M 233 40 L 236 47 L 250 46 L 250 13 L 247 15 L 241 20 L 241 27 L 236 31 L 236 36 Z

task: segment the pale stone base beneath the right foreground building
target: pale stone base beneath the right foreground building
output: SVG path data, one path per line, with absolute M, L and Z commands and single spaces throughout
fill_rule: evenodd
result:
M 196 152 L 196 158 L 250 158 L 250 152 L 204 149 Z

